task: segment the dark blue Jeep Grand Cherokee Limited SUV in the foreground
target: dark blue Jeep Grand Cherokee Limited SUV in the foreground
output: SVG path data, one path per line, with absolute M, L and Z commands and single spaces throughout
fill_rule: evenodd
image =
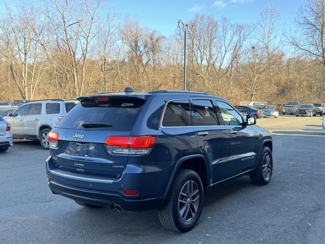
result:
M 84 207 L 157 208 L 161 224 L 185 232 L 209 187 L 242 175 L 271 179 L 269 131 L 224 99 L 125 89 L 78 100 L 49 133 L 46 172 L 54 194 Z

